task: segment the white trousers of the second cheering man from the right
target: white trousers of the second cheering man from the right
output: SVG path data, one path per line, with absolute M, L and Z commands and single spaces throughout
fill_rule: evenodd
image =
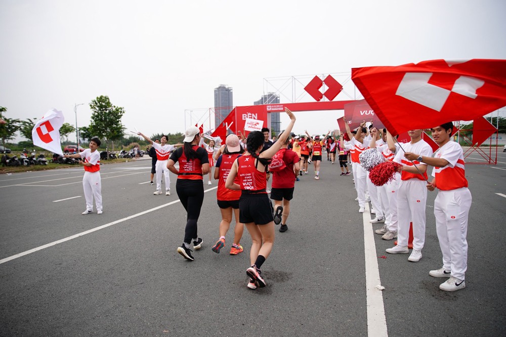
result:
M 407 246 L 409 223 L 413 223 L 413 249 L 421 251 L 425 244 L 425 208 L 427 182 L 416 178 L 401 180 L 397 195 L 397 245 Z

